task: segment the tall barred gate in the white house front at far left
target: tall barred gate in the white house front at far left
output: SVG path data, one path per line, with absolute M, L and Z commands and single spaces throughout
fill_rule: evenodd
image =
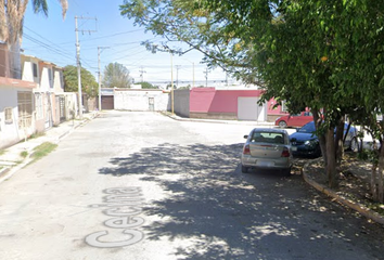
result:
M 18 128 L 27 128 L 31 126 L 33 119 L 33 93 L 20 91 L 17 92 L 17 108 L 18 108 Z

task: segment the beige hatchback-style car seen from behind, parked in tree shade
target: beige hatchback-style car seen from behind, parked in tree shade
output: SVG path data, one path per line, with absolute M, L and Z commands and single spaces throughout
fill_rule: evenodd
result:
M 289 133 L 283 129 L 255 128 L 248 135 L 241 156 L 241 170 L 277 169 L 291 174 L 293 164 Z

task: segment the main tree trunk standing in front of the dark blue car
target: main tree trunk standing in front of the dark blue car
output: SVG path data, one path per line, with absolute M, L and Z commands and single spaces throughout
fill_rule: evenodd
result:
M 337 178 L 336 178 L 336 155 L 335 155 L 335 139 L 333 129 L 327 130 L 327 177 L 328 177 L 328 185 L 330 187 L 337 186 Z

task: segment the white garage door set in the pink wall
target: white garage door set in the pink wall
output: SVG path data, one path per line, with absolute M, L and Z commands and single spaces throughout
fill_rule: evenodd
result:
M 258 98 L 238 98 L 238 119 L 266 121 L 267 120 L 267 105 L 259 106 L 257 104 Z

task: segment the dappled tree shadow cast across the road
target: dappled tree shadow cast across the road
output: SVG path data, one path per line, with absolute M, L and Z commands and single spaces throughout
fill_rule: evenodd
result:
M 371 250 L 366 259 L 383 253 L 360 218 L 308 191 L 299 176 L 241 173 L 241 151 L 242 144 L 163 144 L 112 158 L 100 173 L 142 176 L 168 194 L 145 205 L 144 216 L 161 221 L 143 227 L 146 239 L 177 243 L 180 259 L 364 259 L 355 252 L 361 248 Z M 363 239 L 356 243 L 356 234 Z

